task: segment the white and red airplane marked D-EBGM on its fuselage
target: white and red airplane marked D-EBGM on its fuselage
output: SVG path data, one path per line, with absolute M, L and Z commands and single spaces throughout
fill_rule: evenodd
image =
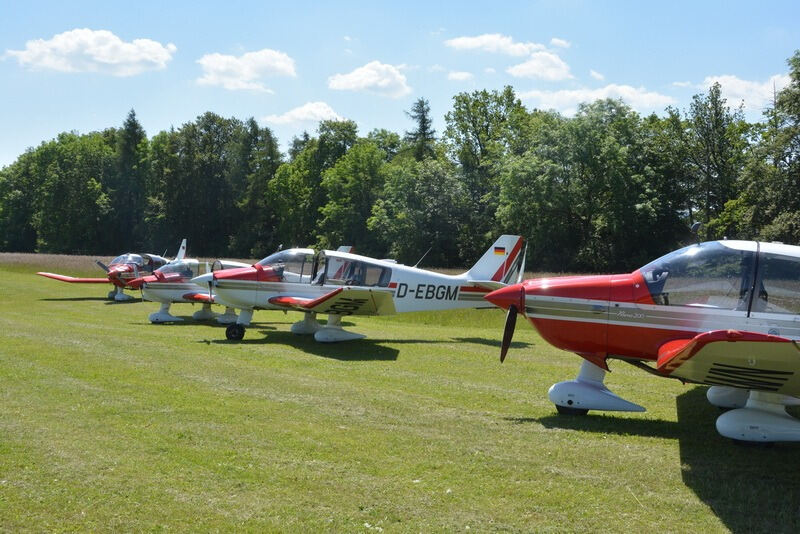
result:
M 412 311 L 481 308 L 481 298 L 521 270 L 522 238 L 503 235 L 467 272 L 445 275 L 393 260 L 345 252 L 293 248 L 244 269 L 215 271 L 192 279 L 208 286 L 216 302 L 241 309 L 225 337 L 240 340 L 254 310 L 299 311 L 294 334 L 313 334 L 323 343 L 364 336 L 342 328 L 347 315 L 391 315 Z M 328 314 L 324 326 L 319 313 Z

